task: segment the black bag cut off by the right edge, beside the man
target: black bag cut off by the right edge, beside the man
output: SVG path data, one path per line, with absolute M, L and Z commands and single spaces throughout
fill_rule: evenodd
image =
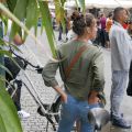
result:
M 129 85 L 128 85 L 128 88 L 127 88 L 127 95 L 132 96 L 132 62 L 131 62 L 131 65 L 130 65 Z

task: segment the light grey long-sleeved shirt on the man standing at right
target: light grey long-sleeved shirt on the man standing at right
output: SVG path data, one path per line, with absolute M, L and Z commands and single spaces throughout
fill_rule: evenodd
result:
M 114 22 L 110 30 L 111 68 L 128 70 L 132 59 L 132 40 L 123 26 Z

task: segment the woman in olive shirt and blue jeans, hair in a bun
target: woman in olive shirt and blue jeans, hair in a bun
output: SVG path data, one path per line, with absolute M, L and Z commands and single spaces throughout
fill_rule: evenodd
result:
M 89 44 L 96 37 L 97 22 L 92 14 L 79 14 L 73 22 L 73 31 L 77 36 L 58 48 L 62 63 L 50 61 L 42 76 L 48 87 L 53 87 L 62 97 L 61 120 L 57 132 L 70 132 L 75 121 L 80 121 L 80 132 L 94 132 L 87 113 L 99 107 L 98 94 L 103 91 L 103 55 L 100 47 Z M 68 75 L 67 67 L 80 50 L 85 50 Z M 61 70 L 65 91 L 55 78 Z

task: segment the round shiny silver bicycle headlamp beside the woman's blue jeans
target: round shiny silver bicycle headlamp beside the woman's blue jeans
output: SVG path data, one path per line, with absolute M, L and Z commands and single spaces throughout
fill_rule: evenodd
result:
M 96 130 L 101 130 L 110 121 L 110 114 L 103 108 L 94 108 L 88 112 L 88 120 Z

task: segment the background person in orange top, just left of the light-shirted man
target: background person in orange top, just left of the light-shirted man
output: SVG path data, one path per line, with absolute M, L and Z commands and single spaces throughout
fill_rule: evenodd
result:
M 106 47 L 110 48 L 110 40 L 109 40 L 109 32 L 112 26 L 112 13 L 108 15 L 107 22 L 106 22 Z

